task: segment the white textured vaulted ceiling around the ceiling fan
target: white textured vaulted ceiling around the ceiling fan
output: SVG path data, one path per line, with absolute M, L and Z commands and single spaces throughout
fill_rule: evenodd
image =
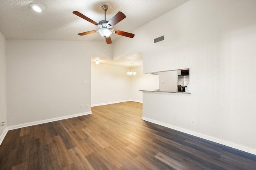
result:
M 132 33 L 149 21 L 173 10 L 188 0 L 0 0 L 0 32 L 6 39 L 104 41 L 99 33 L 80 36 L 77 33 L 98 29 L 76 16 L 78 11 L 99 22 L 104 20 L 103 5 L 108 5 L 106 20 L 118 11 L 126 18 L 113 28 Z M 41 13 L 29 6 L 38 3 Z M 135 35 L 136 36 L 136 35 Z M 112 34 L 112 42 L 121 35 Z M 128 38 L 128 37 L 126 37 Z M 140 57 L 138 57 L 140 58 Z

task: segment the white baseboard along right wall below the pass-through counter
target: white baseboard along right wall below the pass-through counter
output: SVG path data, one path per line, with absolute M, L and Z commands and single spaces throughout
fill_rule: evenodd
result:
M 222 139 L 218 139 L 218 138 L 214 138 L 214 137 L 211 137 L 211 136 L 208 136 L 208 135 L 204 135 L 204 134 L 201 134 L 201 133 L 197 133 L 197 132 L 194 132 L 194 131 L 190 131 L 188 129 L 183 129 L 181 127 L 177 127 L 177 126 L 173 126 L 173 125 L 169 125 L 167 123 L 163 123 L 163 122 L 160 122 L 160 121 L 156 121 L 156 120 L 153 120 L 153 119 L 149 119 L 149 118 L 146 118 L 146 117 L 142 117 L 142 120 L 144 121 L 148 121 L 148 122 L 151 122 L 151 123 L 155 123 L 157 125 L 161 125 L 161 126 L 164 126 L 164 127 L 168 127 L 170 129 L 174 129 L 176 131 L 180 131 L 180 132 L 183 132 L 183 133 L 187 133 L 189 135 L 193 135 L 193 136 L 196 136 L 196 137 L 200 137 L 202 139 L 206 139 L 208 141 L 212 141 L 212 142 L 215 142 L 215 143 L 219 143 L 219 144 L 222 144 L 222 145 L 225 145 L 227 147 L 231 147 L 231 148 L 234 148 L 234 149 L 238 149 L 238 150 L 242 150 L 244 152 L 248 152 L 248 153 L 251 153 L 251 154 L 254 154 L 256 155 L 256 149 L 252 149 L 252 148 L 248 148 L 248 147 L 244 147 L 242 145 L 238 145 L 238 144 L 235 144 L 235 143 L 231 143 L 231 142 L 228 142 L 228 141 L 224 141 Z

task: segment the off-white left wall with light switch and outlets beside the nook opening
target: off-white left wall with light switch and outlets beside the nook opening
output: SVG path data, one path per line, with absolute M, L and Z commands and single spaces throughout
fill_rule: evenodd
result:
M 8 126 L 91 113 L 91 56 L 112 58 L 103 49 L 100 42 L 6 40 Z

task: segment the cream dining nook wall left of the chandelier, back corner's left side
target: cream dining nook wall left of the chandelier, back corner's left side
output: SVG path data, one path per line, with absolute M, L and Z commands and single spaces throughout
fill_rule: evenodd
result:
M 129 101 L 131 98 L 131 78 L 128 68 L 110 64 L 91 63 L 92 106 Z

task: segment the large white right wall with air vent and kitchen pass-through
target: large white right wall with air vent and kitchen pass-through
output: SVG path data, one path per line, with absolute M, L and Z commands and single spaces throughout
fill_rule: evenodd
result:
M 145 92 L 145 119 L 256 154 L 256 1 L 188 1 L 133 32 L 113 58 L 142 51 L 144 72 L 190 68 L 191 95 Z

